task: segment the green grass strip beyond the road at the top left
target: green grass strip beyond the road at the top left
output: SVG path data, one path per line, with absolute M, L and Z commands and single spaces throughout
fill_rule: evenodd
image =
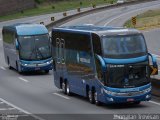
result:
M 28 16 L 36 16 L 47 13 L 56 13 L 62 12 L 77 8 L 89 7 L 92 5 L 104 5 L 114 3 L 116 0 L 65 0 L 59 2 L 43 2 L 45 0 L 37 0 L 40 1 L 39 4 L 35 6 L 33 9 L 23 10 L 11 15 L 0 16 L 0 21 L 11 20 L 16 18 L 28 17 Z M 42 2 L 41 2 L 42 1 Z

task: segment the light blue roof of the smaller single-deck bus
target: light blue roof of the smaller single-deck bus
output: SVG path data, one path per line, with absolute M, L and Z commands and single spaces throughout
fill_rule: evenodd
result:
M 10 26 L 4 26 L 3 29 L 15 30 L 17 35 L 39 35 L 48 33 L 48 30 L 44 25 L 31 23 L 17 23 Z

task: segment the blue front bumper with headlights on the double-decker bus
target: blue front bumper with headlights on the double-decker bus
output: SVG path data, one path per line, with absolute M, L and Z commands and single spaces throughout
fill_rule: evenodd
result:
M 116 91 L 114 91 L 116 90 Z M 128 89 L 103 89 L 105 103 L 129 103 L 149 101 L 151 99 L 151 84 Z M 134 91 L 133 91 L 134 90 Z M 119 92 L 118 92 L 119 91 Z M 123 91 L 123 92 L 120 92 Z

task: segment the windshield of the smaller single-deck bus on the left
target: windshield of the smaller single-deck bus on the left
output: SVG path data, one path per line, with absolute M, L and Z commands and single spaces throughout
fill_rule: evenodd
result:
M 44 60 L 51 57 L 48 34 L 19 36 L 19 52 L 22 60 Z

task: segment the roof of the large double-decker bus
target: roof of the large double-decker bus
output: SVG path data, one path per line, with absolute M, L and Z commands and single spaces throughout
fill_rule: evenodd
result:
M 94 25 L 81 25 L 81 26 L 64 26 L 53 28 L 54 30 L 61 31 L 74 31 L 74 32 L 89 32 L 98 35 L 114 35 L 114 34 L 138 34 L 140 31 L 133 28 L 123 27 L 110 27 L 110 26 L 94 26 Z

